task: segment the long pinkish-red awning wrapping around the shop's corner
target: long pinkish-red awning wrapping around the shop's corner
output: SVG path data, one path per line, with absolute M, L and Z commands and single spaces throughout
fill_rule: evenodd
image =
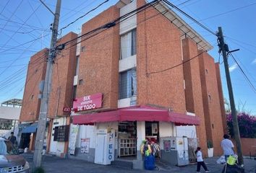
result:
M 176 125 L 199 125 L 196 116 L 169 112 L 149 106 L 126 107 L 108 112 L 97 112 L 85 115 L 74 115 L 73 124 L 91 124 L 114 121 L 162 121 Z

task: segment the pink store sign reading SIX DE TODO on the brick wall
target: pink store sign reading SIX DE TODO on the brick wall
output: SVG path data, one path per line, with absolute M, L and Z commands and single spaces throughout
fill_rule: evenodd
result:
M 94 110 L 100 107 L 102 107 L 102 93 L 76 98 L 73 102 L 74 112 Z

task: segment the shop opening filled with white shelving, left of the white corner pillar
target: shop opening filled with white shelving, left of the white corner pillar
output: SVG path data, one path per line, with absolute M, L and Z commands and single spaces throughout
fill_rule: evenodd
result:
M 133 158 L 137 154 L 137 123 L 119 122 L 118 125 L 118 157 Z M 127 158 L 128 159 L 128 158 Z

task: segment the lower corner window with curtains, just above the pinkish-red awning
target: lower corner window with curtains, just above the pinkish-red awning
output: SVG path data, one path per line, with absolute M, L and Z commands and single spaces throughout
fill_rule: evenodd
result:
M 134 97 L 137 95 L 136 69 L 124 71 L 119 74 L 119 99 Z

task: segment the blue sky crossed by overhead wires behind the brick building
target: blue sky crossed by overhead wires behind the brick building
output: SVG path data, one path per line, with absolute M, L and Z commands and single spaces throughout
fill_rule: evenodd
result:
M 56 0 L 43 0 L 55 12 Z M 169 0 L 170 1 L 170 0 Z M 103 0 L 62 0 L 59 29 L 67 26 Z M 116 4 L 110 0 L 92 13 L 77 20 L 64 30 L 59 37 L 68 32 L 79 33 L 83 23 L 109 6 Z M 222 27 L 224 39 L 234 58 L 251 82 L 242 74 L 239 66 L 229 57 L 229 71 L 234 90 L 236 108 L 256 115 L 256 1 L 252 0 L 174 0 L 171 3 L 216 32 Z M 176 12 L 179 14 L 179 12 Z M 179 14 L 182 16 L 182 14 Z M 221 63 L 223 96 L 229 99 L 223 58 L 219 56 L 217 38 L 191 20 L 182 16 L 205 40 L 213 45 L 210 53 L 216 62 Z M 0 102 L 19 98 L 25 87 L 27 64 L 30 56 L 43 48 L 48 48 L 51 40 L 53 14 L 39 0 L 1 0 L 0 1 Z

